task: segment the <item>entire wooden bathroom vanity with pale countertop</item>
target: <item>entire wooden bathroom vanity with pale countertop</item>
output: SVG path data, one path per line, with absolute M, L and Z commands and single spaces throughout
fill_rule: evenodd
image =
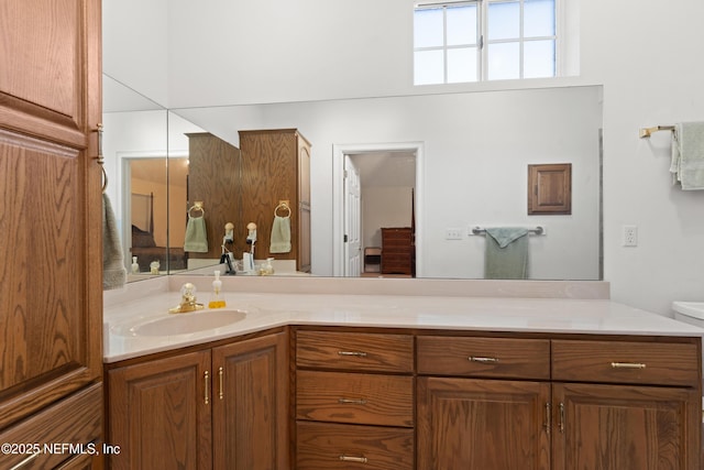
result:
M 603 298 L 227 281 L 246 315 L 211 329 L 140 335 L 175 285 L 106 306 L 113 468 L 701 468 L 696 327 Z

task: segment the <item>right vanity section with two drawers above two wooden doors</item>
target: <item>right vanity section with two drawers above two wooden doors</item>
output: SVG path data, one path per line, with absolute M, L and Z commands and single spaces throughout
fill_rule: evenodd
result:
M 700 469 L 701 357 L 695 338 L 419 336 L 418 469 Z

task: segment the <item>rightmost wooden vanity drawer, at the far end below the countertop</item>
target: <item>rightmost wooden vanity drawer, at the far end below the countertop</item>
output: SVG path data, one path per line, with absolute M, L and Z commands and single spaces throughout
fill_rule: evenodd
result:
M 695 345 L 552 341 L 552 380 L 698 386 Z

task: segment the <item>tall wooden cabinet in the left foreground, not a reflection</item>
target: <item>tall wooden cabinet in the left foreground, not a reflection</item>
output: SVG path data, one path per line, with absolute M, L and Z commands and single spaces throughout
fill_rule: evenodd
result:
M 100 15 L 99 0 L 2 2 L 1 442 L 101 438 Z M 32 448 L 0 468 L 91 460 Z

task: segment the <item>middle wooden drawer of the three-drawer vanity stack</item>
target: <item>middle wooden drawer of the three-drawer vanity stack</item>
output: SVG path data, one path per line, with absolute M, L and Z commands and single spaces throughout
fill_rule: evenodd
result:
M 298 371 L 296 417 L 320 422 L 414 425 L 414 379 Z

